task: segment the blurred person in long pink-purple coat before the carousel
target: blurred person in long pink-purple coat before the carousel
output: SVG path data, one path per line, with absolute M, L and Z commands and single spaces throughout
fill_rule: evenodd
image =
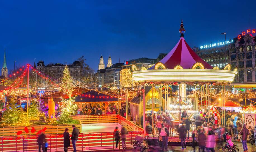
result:
M 215 147 L 215 133 L 213 131 L 212 126 L 208 127 L 205 147 L 206 147 L 207 152 L 210 152 L 210 151 L 215 152 L 215 150 L 214 150 L 214 147 Z

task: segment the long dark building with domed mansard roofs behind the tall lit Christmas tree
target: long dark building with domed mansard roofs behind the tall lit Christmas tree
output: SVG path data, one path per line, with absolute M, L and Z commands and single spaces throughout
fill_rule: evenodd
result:
M 63 71 L 66 64 L 55 63 L 55 64 L 48 64 L 45 66 L 44 61 L 38 61 L 36 68 L 39 71 L 51 76 L 55 79 L 59 79 L 63 76 Z M 81 70 L 81 63 L 79 61 L 73 62 L 71 65 L 67 65 L 70 71 L 70 75 L 75 79 L 79 80 L 80 78 L 80 70 Z

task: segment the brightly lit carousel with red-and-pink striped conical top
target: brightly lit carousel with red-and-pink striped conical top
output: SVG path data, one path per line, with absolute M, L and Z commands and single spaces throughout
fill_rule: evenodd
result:
M 133 65 L 134 68 L 131 71 L 134 80 L 142 88 L 143 86 L 160 88 L 160 94 L 167 88 L 167 93 L 166 91 L 162 93 L 165 99 L 163 111 L 172 115 L 174 125 L 181 123 L 182 111 L 186 111 L 189 118 L 199 111 L 214 111 L 211 102 L 212 88 L 221 88 L 221 103 L 224 109 L 225 91 L 237 74 L 237 68 L 231 70 L 229 64 L 219 69 L 203 61 L 186 43 L 183 22 L 181 22 L 179 33 L 181 36 L 178 43 L 162 60 L 150 68 L 138 69 Z M 169 90 L 170 94 L 168 93 L 168 88 L 172 86 L 178 87 L 175 95 L 172 94 L 172 89 Z M 187 95 L 188 88 L 193 89 L 193 94 Z M 200 98 L 199 92 L 203 94 Z M 199 99 L 205 101 L 203 106 L 198 104 Z M 154 105 L 154 98 L 152 105 Z

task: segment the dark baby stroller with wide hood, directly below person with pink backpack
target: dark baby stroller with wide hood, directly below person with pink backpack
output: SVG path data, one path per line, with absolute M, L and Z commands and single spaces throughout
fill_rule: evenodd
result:
M 148 141 L 148 151 L 149 152 L 158 152 L 161 151 L 161 147 L 159 147 L 159 135 L 148 135 L 146 139 Z

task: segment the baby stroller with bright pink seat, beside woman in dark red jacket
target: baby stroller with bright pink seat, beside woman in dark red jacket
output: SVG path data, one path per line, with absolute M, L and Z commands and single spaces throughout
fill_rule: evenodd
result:
M 222 146 L 222 151 L 228 150 L 229 152 L 239 152 L 239 149 L 236 148 L 237 144 L 232 142 L 232 139 L 237 136 L 237 134 L 233 137 L 229 136 L 228 132 L 222 134 L 224 141 L 226 142 L 225 145 Z

